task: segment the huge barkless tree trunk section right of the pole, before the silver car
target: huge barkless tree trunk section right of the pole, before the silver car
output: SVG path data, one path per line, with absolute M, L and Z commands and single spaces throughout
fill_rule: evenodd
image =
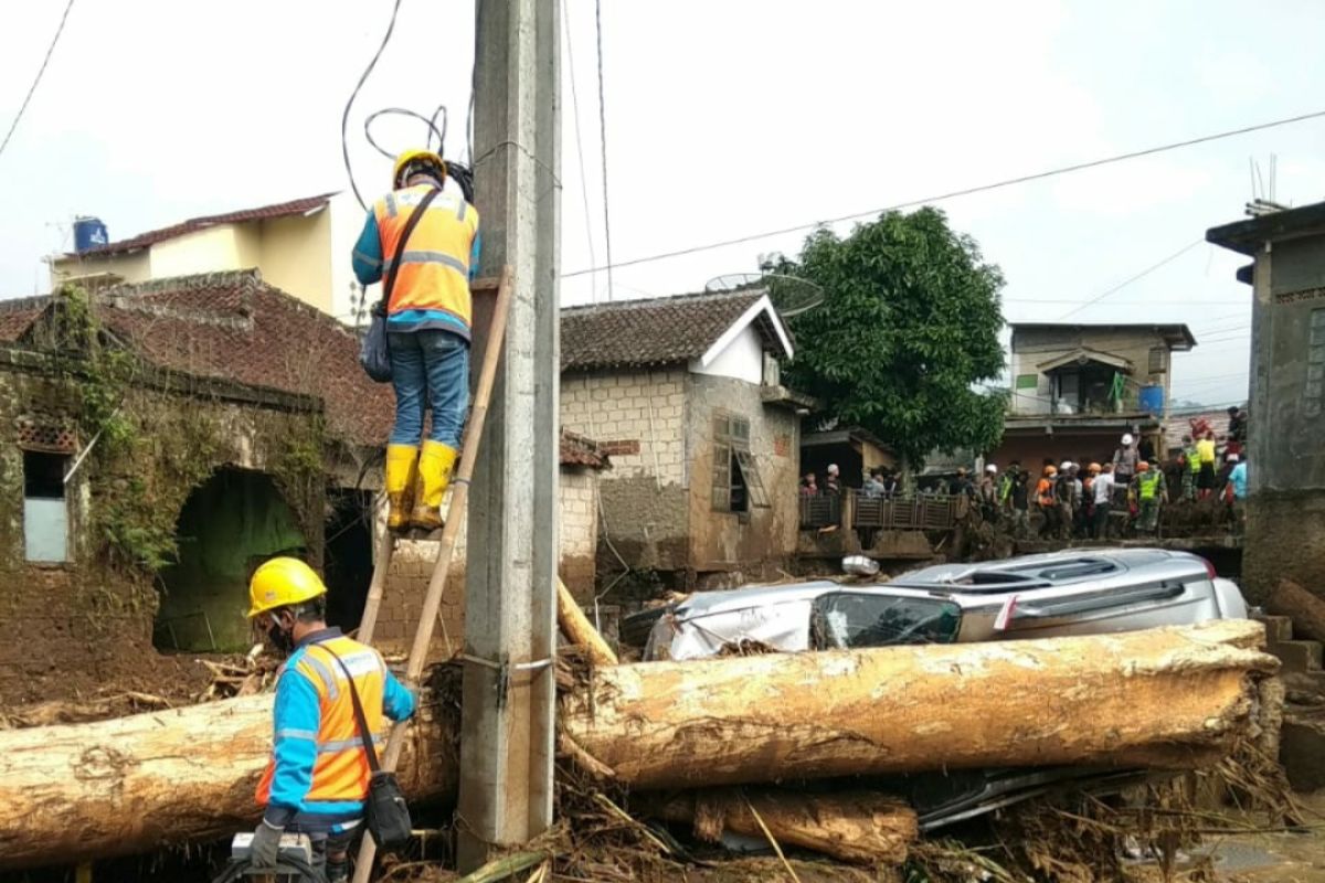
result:
M 1279 662 L 1247 620 L 1051 641 L 600 669 L 562 723 L 633 788 L 943 768 L 1191 769 L 1251 736 Z

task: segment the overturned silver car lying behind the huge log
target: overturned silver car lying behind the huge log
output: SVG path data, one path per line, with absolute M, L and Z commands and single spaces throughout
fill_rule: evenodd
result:
M 1204 559 L 1137 548 L 700 592 L 643 616 L 656 620 L 645 659 L 698 659 L 742 642 L 795 653 L 1133 631 L 1246 618 L 1247 605 Z

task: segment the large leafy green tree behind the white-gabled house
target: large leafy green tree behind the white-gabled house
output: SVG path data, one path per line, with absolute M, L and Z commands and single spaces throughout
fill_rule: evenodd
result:
M 884 438 L 912 466 L 935 449 L 998 445 L 1006 400 L 974 385 L 1003 369 L 1003 274 L 941 210 L 889 212 L 847 238 L 820 229 L 799 261 L 766 269 L 824 293 L 787 320 L 796 339 L 787 373 L 829 416 Z

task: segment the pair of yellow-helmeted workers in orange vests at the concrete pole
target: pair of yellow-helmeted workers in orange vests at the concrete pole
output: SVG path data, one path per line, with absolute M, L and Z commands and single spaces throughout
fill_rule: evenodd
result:
M 368 210 L 352 254 L 364 286 L 394 277 L 383 304 L 396 397 L 384 477 L 392 531 L 441 526 L 468 409 L 478 213 L 445 189 L 447 177 L 437 154 L 401 154 L 392 191 Z M 343 883 L 350 846 L 363 830 L 370 780 L 370 733 L 360 732 L 352 696 L 362 702 L 374 744 L 384 743 L 388 720 L 413 714 L 415 696 L 376 650 L 327 626 L 326 586 L 306 563 L 264 563 L 249 596 L 254 629 L 286 657 L 276 686 L 272 760 L 257 786 L 265 809 L 250 867 L 276 867 L 282 834 L 307 834 L 313 867 L 327 883 Z

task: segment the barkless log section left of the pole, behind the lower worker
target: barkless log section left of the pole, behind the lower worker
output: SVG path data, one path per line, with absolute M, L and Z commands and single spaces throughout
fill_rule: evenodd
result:
M 0 733 L 0 870 L 144 853 L 253 825 L 272 699 Z M 412 798 L 454 792 L 444 721 L 411 728 L 400 770 Z

